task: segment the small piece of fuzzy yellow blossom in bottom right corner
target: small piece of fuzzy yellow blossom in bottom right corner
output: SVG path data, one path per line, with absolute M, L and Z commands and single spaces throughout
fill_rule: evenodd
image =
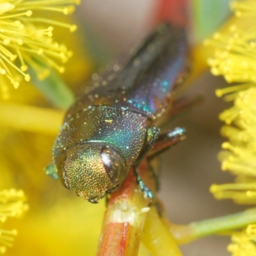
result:
M 228 245 L 228 251 L 232 256 L 256 255 L 256 225 L 248 225 L 243 232 L 236 232 L 232 236 L 232 243 Z

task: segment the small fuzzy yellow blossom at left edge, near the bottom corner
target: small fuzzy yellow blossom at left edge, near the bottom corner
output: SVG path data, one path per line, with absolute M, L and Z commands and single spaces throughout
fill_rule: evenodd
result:
M 0 191 L 0 222 L 7 218 L 19 218 L 28 210 L 26 197 L 22 190 L 10 189 Z M 17 230 L 5 230 L 0 228 L 0 253 L 6 252 L 6 248 L 12 246 Z

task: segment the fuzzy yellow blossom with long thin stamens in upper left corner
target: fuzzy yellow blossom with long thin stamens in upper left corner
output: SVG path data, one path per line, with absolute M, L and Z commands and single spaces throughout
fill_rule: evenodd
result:
M 74 31 L 76 26 L 45 17 L 49 16 L 49 12 L 72 13 L 78 1 L 0 1 L 0 90 L 3 98 L 8 97 L 7 80 L 14 88 L 19 86 L 22 79 L 30 81 L 29 68 L 35 71 L 38 79 L 49 75 L 48 67 L 56 68 L 58 72 L 64 71 L 58 61 L 65 63 L 72 52 L 65 45 L 52 40 L 52 31 L 54 26 Z

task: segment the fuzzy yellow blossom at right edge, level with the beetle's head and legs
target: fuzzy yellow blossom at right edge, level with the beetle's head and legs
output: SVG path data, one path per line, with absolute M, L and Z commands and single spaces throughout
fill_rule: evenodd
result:
M 227 125 L 221 134 L 229 139 L 222 147 L 222 170 L 237 175 L 235 184 L 212 185 L 216 198 L 232 198 L 239 204 L 256 204 L 256 88 L 237 93 L 234 107 L 220 115 Z M 235 124 L 235 125 L 233 125 Z

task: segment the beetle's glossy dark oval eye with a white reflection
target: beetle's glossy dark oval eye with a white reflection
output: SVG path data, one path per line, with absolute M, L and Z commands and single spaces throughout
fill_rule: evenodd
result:
M 101 158 L 109 179 L 113 185 L 119 185 L 125 179 L 127 169 L 120 152 L 111 146 L 104 147 Z

